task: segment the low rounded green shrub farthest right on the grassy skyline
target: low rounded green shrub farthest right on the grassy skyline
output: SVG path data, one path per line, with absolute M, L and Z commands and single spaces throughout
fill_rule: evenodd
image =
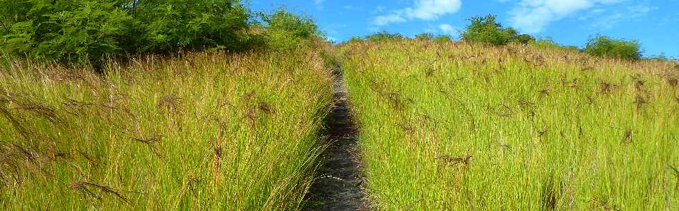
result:
M 604 35 L 590 37 L 585 46 L 590 55 L 617 59 L 638 60 L 642 58 L 641 45 L 636 40 L 615 39 Z

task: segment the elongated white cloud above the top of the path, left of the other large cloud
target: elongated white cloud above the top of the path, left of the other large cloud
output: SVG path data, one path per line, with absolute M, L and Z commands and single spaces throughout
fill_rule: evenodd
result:
M 457 12 L 462 6 L 460 0 L 416 0 L 412 7 L 393 10 L 387 15 L 380 15 L 373 19 L 373 24 L 385 26 L 409 19 L 423 19 L 432 21 Z M 383 8 L 378 8 L 378 11 Z

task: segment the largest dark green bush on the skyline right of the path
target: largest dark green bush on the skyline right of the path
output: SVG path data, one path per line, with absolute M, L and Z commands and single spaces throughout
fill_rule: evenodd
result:
M 462 40 L 491 45 L 504 45 L 509 42 L 529 44 L 535 41 L 531 35 L 519 34 L 514 28 L 503 28 L 495 15 L 472 17 L 470 24 L 461 32 Z

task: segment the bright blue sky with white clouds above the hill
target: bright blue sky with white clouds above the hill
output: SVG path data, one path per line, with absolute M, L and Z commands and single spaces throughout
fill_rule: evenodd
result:
M 280 6 L 312 17 L 328 38 L 342 42 L 380 30 L 403 35 L 450 34 L 466 19 L 497 15 L 504 26 L 560 44 L 583 46 L 590 35 L 636 39 L 644 55 L 679 57 L 678 0 L 249 0 L 252 10 Z

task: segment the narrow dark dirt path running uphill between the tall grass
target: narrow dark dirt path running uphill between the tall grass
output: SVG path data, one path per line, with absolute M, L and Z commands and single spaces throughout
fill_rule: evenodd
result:
M 321 154 L 325 163 L 320 178 L 310 188 L 306 211 L 369 210 L 362 189 L 361 163 L 356 148 L 358 131 L 353 124 L 347 104 L 344 77 L 337 68 L 333 71 L 335 106 L 326 118 L 325 135 L 330 146 Z

